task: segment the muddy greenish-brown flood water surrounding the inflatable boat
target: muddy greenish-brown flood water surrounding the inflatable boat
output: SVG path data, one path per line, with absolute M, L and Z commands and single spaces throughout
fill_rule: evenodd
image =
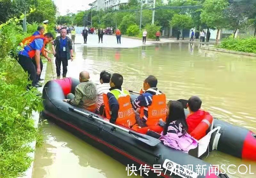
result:
M 75 60 L 68 74 L 78 78 L 83 70 L 99 82 L 102 70 L 124 76 L 124 87 L 139 91 L 148 75 L 155 75 L 158 88 L 169 99 L 198 95 L 202 108 L 214 117 L 256 132 L 256 58 L 200 50 L 200 44 L 168 43 L 138 48 L 96 48 L 76 45 Z M 55 65 L 47 67 L 47 80 L 56 78 Z M 33 177 L 125 177 L 125 166 L 76 136 L 49 122 L 44 125 L 42 148 L 36 149 Z M 236 133 L 234 133 L 236 134 Z M 256 163 L 213 151 L 204 159 L 211 164 L 248 166 L 255 177 Z M 249 165 L 251 173 L 249 174 Z M 230 172 L 237 172 L 230 167 Z M 240 172 L 246 169 L 241 167 Z

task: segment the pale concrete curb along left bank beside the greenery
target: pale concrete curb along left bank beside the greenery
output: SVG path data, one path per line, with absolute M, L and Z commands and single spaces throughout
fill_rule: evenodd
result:
M 41 77 L 43 79 L 45 79 L 47 63 L 43 63 L 43 64 L 44 64 L 44 66 L 43 66 L 43 70 L 42 70 L 42 73 L 41 73 Z M 38 91 L 40 91 L 40 93 L 42 93 L 43 89 L 44 89 L 44 86 L 39 87 L 37 89 L 38 89 Z M 32 119 L 34 120 L 34 127 L 35 128 L 38 127 L 39 117 L 40 117 L 39 112 L 32 111 Z M 19 178 L 32 178 L 32 175 L 33 175 L 33 167 L 34 167 L 35 153 L 36 153 L 35 152 L 36 151 L 36 141 L 28 143 L 27 145 L 30 146 L 34 150 L 33 152 L 28 153 L 28 156 L 33 161 L 31 162 L 30 167 L 25 172 L 23 172 L 24 175 L 20 176 Z

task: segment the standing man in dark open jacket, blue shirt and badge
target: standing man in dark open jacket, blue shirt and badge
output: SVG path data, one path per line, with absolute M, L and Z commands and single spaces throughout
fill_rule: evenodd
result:
M 54 46 L 56 46 L 56 50 Z M 66 74 L 68 72 L 68 60 L 71 59 L 72 61 L 74 56 L 71 39 L 67 36 L 67 30 L 65 28 L 60 30 L 60 36 L 57 36 L 56 39 L 53 41 L 52 51 L 54 56 L 56 57 L 55 64 L 57 76 L 60 76 L 60 65 L 62 62 L 62 76 L 66 77 Z

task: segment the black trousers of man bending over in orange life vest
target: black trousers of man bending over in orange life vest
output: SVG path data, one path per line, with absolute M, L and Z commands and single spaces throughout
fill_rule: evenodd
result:
M 18 58 L 19 58 L 18 63 L 23 68 L 23 70 L 25 72 L 28 71 L 28 81 L 32 82 L 32 86 L 35 86 L 37 74 L 36 74 L 36 67 L 33 64 L 32 59 L 27 56 L 20 55 L 20 54 L 18 55 Z

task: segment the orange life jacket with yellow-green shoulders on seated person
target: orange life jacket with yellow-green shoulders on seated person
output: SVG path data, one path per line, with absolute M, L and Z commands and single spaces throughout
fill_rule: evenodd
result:
M 118 91 L 118 89 L 115 90 Z M 110 91 L 110 93 L 112 92 L 113 90 Z M 125 95 L 124 92 L 121 90 L 119 90 L 118 92 L 120 93 L 120 95 L 118 96 L 112 93 L 116 97 L 117 102 L 119 104 L 118 118 L 116 119 L 116 124 L 120 124 L 124 127 L 130 128 L 136 123 L 135 113 L 132 109 L 130 96 Z M 110 119 L 111 114 L 107 94 L 103 94 L 103 101 L 105 104 L 106 117 Z

